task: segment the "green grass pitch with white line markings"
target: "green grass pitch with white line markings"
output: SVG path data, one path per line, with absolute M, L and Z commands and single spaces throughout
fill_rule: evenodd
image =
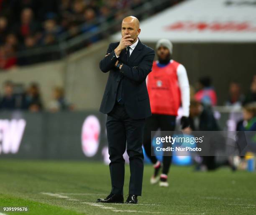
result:
M 0 215 L 234 215 L 256 214 L 256 173 L 228 168 L 194 172 L 172 166 L 168 188 L 151 185 L 145 165 L 138 205 L 99 204 L 110 192 L 108 166 L 84 161 L 0 160 L 0 206 L 29 207 Z M 124 195 L 129 166 L 125 166 Z

